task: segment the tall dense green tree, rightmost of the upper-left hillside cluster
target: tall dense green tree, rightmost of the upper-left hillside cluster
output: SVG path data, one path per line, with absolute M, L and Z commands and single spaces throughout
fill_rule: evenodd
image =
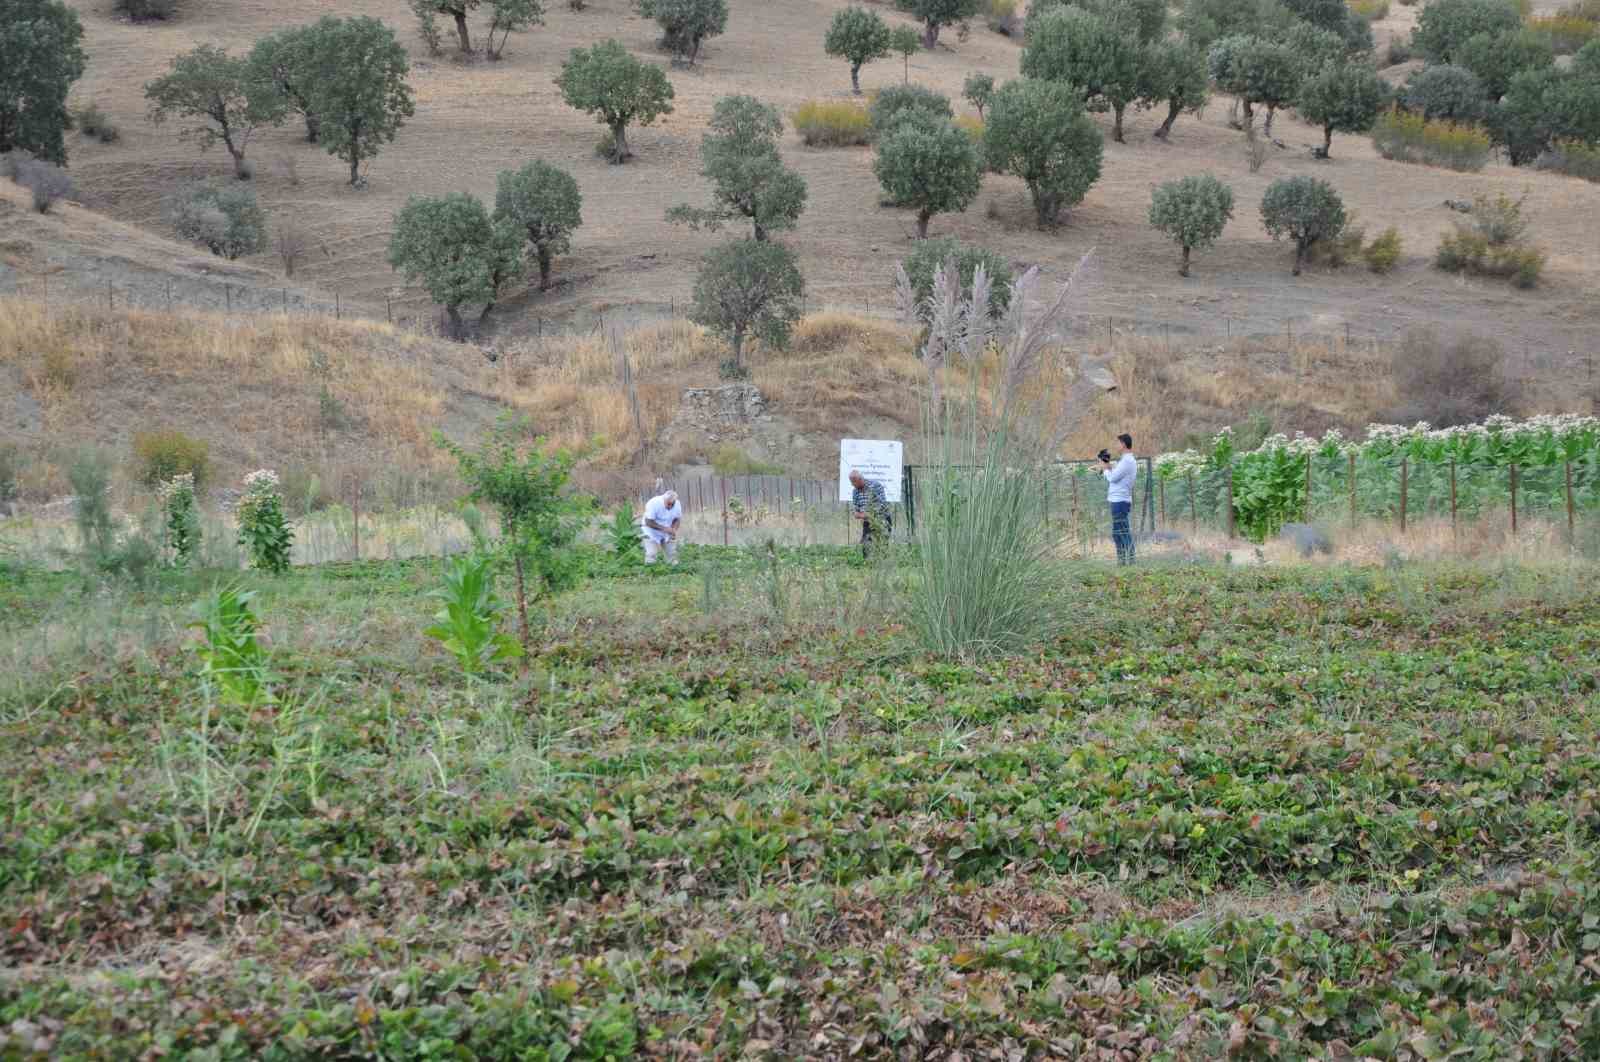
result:
M 318 22 L 318 78 L 310 110 L 322 147 L 350 163 L 350 186 L 362 184 L 362 163 L 394 142 L 416 114 L 406 74 L 411 64 L 394 30 L 368 16 Z

